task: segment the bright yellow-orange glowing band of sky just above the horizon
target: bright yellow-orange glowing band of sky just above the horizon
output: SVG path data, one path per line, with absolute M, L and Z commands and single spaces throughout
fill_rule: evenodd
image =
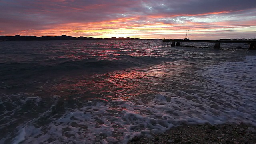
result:
M 220 13 L 222 14 L 222 13 Z M 222 18 L 221 21 L 215 21 L 214 18 Z M 84 36 L 95 38 L 111 38 L 111 37 L 130 37 L 130 38 L 184 38 L 186 30 L 190 30 L 192 39 L 209 39 L 208 36 L 213 34 L 221 34 L 227 36 L 230 32 L 247 32 L 253 35 L 256 29 L 254 20 L 239 21 L 236 17 L 229 17 L 232 23 L 225 21 L 223 16 L 212 15 L 201 16 L 180 16 L 180 17 L 164 17 L 164 16 L 149 16 L 147 20 L 141 19 L 141 16 L 130 18 L 116 18 L 112 20 L 90 22 L 90 23 L 66 23 L 52 24 L 45 26 L 44 30 L 19 30 L 19 35 L 34 35 L 34 36 Z M 245 26 L 246 25 L 246 26 Z M 10 35 L 16 35 L 10 34 Z M 242 37 L 246 37 L 241 35 Z M 240 37 L 241 37 L 240 36 Z M 253 37 L 253 36 L 252 36 Z M 247 38 L 247 37 L 246 37 Z M 250 37 L 248 37 L 250 38 Z

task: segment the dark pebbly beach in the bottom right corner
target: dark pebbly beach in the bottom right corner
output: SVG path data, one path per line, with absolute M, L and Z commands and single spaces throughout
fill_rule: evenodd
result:
M 243 123 L 183 125 L 152 138 L 135 137 L 128 144 L 256 144 L 256 126 Z

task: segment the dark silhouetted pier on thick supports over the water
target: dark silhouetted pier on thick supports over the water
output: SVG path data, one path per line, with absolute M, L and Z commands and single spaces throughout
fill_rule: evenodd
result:
M 220 49 L 220 43 L 244 43 L 250 44 L 249 50 L 256 50 L 256 40 L 183 40 L 183 39 L 164 39 L 164 46 L 165 42 L 172 42 L 171 46 L 180 46 L 180 42 L 209 42 L 215 43 L 214 48 Z

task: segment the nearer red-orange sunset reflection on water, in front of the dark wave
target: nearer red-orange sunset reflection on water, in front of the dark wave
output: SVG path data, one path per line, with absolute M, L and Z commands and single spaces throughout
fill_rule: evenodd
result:
M 50 94 L 104 101 L 129 100 L 168 89 L 168 80 L 179 76 L 186 64 L 154 64 L 96 74 L 70 73 L 47 88 Z

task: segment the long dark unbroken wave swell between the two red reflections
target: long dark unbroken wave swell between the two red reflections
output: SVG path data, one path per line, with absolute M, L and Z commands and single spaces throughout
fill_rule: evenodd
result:
M 60 73 L 74 70 L 82 70 L 83 72 L 104 73 L 113 70 L 122 70 L 132 67 L 144 67 L 151 64 L 158 64 L 162 61 L 172 60 L 161 57 L 150 56 L 129 56 L 119 55 L 114 60 L 88 58 L 82 60 L 69 60 L 59 64 L 39 64 L 39 63 L 0 63 L 1 79 L 8 78 L 26 78 L 38 76 L 45 73 Z

